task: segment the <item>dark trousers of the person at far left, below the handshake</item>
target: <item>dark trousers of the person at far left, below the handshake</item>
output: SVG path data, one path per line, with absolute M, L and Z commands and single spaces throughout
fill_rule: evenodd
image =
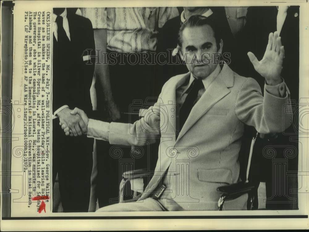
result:
M 53 119 L 53 184 L 58 173 L 64 212 L 88 212 L 93 139 L 66 136 Z

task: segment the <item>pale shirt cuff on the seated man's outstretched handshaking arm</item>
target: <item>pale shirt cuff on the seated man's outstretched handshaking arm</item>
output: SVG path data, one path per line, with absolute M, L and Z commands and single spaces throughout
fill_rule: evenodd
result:
M 109 123 L 99 120 L 89 119 L 87 137 L 108 141 Z

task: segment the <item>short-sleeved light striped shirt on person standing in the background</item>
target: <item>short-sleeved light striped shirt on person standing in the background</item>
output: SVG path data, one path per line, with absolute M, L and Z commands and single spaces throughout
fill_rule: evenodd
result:
M 116 52 L 155 51 L 158 29 L 179 15 L 176 7 L 81 8 L 94 29 L 107 29 L 107 49 Z

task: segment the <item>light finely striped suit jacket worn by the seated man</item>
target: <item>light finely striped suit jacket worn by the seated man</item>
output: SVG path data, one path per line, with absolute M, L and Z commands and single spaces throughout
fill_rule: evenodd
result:
M 155 175 L 142 199 L 149 197 L 167 171 L 171 197 L 184 210 L 217 210 L 217 187 L 239 181 L 238 154 L 244 124 L 260 133 L 282 132 L 292 123 L 289 90 L 283 98 L 224 65 L 220 74 L 192 108 L 176 139 L 176 89 L 190 73 L 172 77 L 163 86 L 158 102 L 134 124 L 111 123 L 111 144 L 145 145 L 161 133 Z M 241 209 L 246 197 L 226 205 Z M 229 208 L 230 207 L 230 208 Z

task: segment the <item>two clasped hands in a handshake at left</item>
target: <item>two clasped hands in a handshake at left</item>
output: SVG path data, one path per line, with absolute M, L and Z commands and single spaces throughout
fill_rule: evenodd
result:
M 83 110 L 79 108 L 74 108 L 74 110 L 64 108 L 57 113 L 57 116 L 59 117 L 59 124 L 67 136 L 87 134 L 89 118 Z

